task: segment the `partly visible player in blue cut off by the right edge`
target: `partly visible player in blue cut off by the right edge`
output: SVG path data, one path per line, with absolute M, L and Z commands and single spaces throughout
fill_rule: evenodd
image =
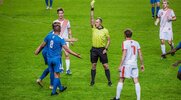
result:
M 166 55 L 168 55 L 168 54 L 173 54 L 173 53 L 177 52 L 177 51 L 180 50 L 180 49 L 181 49 L 181 42 L 178 44 L 178 46 L 177 46 L 176 48 L 172 49 L 171 51 L 167 52 L 166 54 L 162 54 L 161 56 L 166 56 Z M 179 64 L 181 64 L 181 60 L 176 61 L 176 62 L 173 64 L 173 66 L 176 67 L 176 66 L 178 66 Z M 181 80 L 181 66 L 179 67 L 178 74 L 177 74 L 177 78 L 178 78 L 179 80 Z

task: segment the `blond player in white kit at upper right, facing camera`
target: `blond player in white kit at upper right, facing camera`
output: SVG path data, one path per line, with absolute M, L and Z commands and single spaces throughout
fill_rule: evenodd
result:
M 168 8 L 168 2 L 166 0 L 163 1 L 163 9 L 160 9 L 158 12 L 158 18 L 155 21 L 155 25 L 158 25 L 160 22 L 160 40 L 161 40 L 161 51 L 162 54 L 166 53 L 165 48 L 165 40 L 168 40 L 168 44 L 171 49 L 173 46 L 173 31 L 172 31 L 172 21 L 176 20 L 176 16 L 174 11 Z M 172 54 L 174 55 L 174 53 Z M 162 56 L 162 58 L 166 58 L 166 56 Z

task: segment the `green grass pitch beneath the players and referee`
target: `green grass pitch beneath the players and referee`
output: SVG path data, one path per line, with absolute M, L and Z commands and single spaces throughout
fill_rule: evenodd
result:
M 133 39 L 139 41 L 144 57 L 145 72 L 139 73 L 141 99 L 181 100 L 181 81 L 176 78 L 178 67 L 171 66 L 180 60 L 181 53 L 178 51 L 175 56 L 160 59 L 159 28 L 154 26 L 151 18 L 150 0 L 96 0 L 95 17 L 103 18 L 103 25 L 111 36 L 108 58 L 113 86 L 107 86 L 100 63 L 97 65 L 96 84 L 89 86 L 89 4 L 90 0 L 54 0 L 52 10 L 45 9 L 44 0 L 4 0 L 0 4 L 0 100 L 109 100 L 116 93 L 123 31 L 128 27 L 133 29 Z M 175 45 L 181 38 L 180 4 L 180 0 L 170 0 L 170 7 L 177 16 L 177 21 L 173 22 Z M 35 56 L 34 51 L 51 30 L 58 7 L 64 8 L 73 36 L 79 39 L 71 49 L 79 52 L 83 59 L 71 56 L 73 75 L 61 74 L 61 82 L 68 89 L 51 97 L 49 76 L 43 80 L 43 88 L 35 82 L 47 66 L 41 54 Z M 168 51 L 168 44 L 166 47 Z M 121 99 L 136 99 L 131 79 L 125 81 Z

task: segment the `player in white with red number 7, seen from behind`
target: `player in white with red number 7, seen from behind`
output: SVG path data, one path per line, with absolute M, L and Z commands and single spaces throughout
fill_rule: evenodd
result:
M 132 31 L 127 29 L 124 31 L 126 40 L 122 43 L 123 55 L 119 66 L 120 80 L 117 85 L 116 97 L 113 100 L 119 100 L 123 88 L 125 78 L 132 78 L 135 84 L 137 100 L 140 100 L 141 88 L 138 81 L 138 65 L 137 56 L 141 61 L 141 70 L 144 71 L 144 64 L 140 45 L 137 41 L 131 39 Z

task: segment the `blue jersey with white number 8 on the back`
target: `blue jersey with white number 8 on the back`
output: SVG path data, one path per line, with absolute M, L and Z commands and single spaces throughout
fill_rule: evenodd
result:
M 44 39 L 44 42 L 46 42 L 47 45 L 48 58 L 61 58 L 62 46 L 66 45 L 65 40 L 63 38 L 56 34 L 48 34 Z

